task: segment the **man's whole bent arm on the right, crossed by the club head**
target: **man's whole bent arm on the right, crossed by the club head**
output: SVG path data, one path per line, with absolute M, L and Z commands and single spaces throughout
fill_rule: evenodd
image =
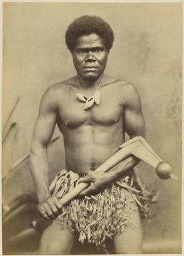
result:
M 122 96 L 122 108 L 123 108 L 123 124 L 124 130 L 130 136 L 134 138 L 136 136 L 142 136 L 145 138 L 145 123 L 142 115 L 140 96 L 132 84 L 126 84 L 123 90 Z M 108 172 L 93 172 L 81 179 L 81 182 L 92 182 L 92 184 L 80 193 L 80 195 L 87 195 L 97 192 L 103 186 L 118 180 L 123 174 L 132 170 L 140 160 L 131 155 L 118 163 L 115 167 L 111 168 Z

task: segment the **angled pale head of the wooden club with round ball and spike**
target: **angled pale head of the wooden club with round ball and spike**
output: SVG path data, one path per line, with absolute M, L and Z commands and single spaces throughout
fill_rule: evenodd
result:
M 154 152 L 151 146 L 146 142 L 144 138 L 141 136 L 137 136 L 128 140 L 120 146 L 120 148 L 129 148 L 130 145 L 134 145 L 131 147 L 131 154 L 143 160 L 150 166 L 156 168 L 156 174 L 163 180 L 168 178 L 173 178 L 178 180 L 178 178 L 173 174 L 173 168 L 171 164 L 167 162 L 163 162 L 161 158 Z

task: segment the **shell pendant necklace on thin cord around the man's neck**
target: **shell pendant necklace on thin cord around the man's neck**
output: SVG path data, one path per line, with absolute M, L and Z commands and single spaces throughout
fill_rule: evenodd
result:
M 84 102 L 84 108 L 83 110 L 88 110 L 89 108 L 92 108 L 92 106 L 96 103 L 97 105 L 100 104 L 101 102 L 101 94 L 99 92 L 99 88 L 103 82 L 103 78 L 99 82 L 99 85 L 97 86 L 97 89 L 95 90 L 95 93 L 93 96 L 86 97 L 83 93 L 83 89 L 81 88 L 81 85 L 79 84 L 79 80 L 77 78 L 77 83 L 79 85 L 79 88 L 81 90 L 81 93 L 76 93 L 77 99 L 80 100 L 81 102 Z

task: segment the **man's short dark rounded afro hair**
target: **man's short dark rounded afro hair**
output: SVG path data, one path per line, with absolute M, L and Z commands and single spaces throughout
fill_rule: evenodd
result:
M 114 33 L 109 24 L 101 17 L 83 15 L 75 19 L 66 31 L 66 45 L 69 51 L 73 51 L 75 43 L 81 35 L 95 33 L 103 39 L 107 51 L 113 47 Z

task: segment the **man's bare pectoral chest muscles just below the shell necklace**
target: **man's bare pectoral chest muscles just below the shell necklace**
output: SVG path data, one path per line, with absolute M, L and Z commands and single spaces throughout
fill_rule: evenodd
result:
M 75 93 L 68 95 L 59 110 L 59 123 L 69 127 L 85 125 L 108 126 L 120 120 L 122 102 L 116 93 L 101 92 L 100 104 L 94 104 L 84 110 L 85 102 L 81 102 Z

